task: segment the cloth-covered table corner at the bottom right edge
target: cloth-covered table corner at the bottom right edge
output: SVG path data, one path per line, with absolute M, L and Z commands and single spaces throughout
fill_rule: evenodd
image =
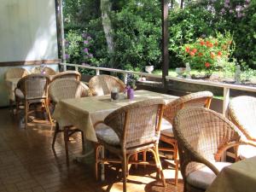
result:
M 255 192 L 256 156 L 224 167 L 207 192 Z

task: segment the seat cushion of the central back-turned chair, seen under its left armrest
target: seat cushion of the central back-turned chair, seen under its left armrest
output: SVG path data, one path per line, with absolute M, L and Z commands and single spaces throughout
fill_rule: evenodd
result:
M 109 145 L 117 146 L 120 144 L 118 135 L 107 125 L 98 126 L 96 128 L 96 137 L 98 140 L 108 143 Z

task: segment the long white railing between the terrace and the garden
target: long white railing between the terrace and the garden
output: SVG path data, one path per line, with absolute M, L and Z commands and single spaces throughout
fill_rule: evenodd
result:
M 127 74 L 137 74 L 145 77 L 154 77 L 154 78 L 162 78 L 161 75 L 151 74 L 151 73 L 140 73 L 140 72 L 133 72 L 133 71 L 125 71 L 121 69 L 113 69 L 113 68 L 106 68 L 106 67 L 90 67 L 90 66 L 82 66 L 77 64 L 69 64 L 69 63 L 61 63 L 61 65 L 64 67 L 64 71 L 67 70 L 67 66 L 75 67 L 75 70 L 78 71 L 79 68 L 87 68 L 96 70 L 96 75 L 100 74 L 100 71 L 108 71 L 108 72 L 115 72 L 115 73 L 122 73 L 124 77 L 124 82 L 126 84 L 127 82 Z M 230 102 L 230 89 L 231 90 L 246 90 L 250 92 L 256 92 L 256 87 L 253 86 L 246 86 L 246 85 L 240 85 L 240 84 L 224 84 L 224 83 L 217 83 L 212 81 L 206 81 L 206 80 L 197 80 L 197 79 L 184 79 L 184 78 L 177 78 L 177 77 L 171 77 L 166 76 L 166 80 L 173 80 L 173 81 L 180 81 L 184 83 L 189 84 L 202 84 L 202 85 L 208 85 L 208 86 L 214 86 L 224 89 L 224 103 L 223 103 L 223 114 L 226 115 L 227 108 Z

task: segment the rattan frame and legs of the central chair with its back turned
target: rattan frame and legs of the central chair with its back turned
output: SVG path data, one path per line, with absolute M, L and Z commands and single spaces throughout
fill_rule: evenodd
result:
M 148 100 L 144 102 L 136 102 L 131 105 L 119 108 L 115 110 L 113 113 L 110 113 L 104 121 L 98 121 L 94 125 L 99 124 L 105 124 L 109 126 L 109 122 L 111 122 L 114 118 L 116 118 L 119 113 L 125 113 L 125 123 L 122 127 L 122 132 L 117 131 L 116 129 L 113 129 L 119 137 L 120 141 L 120 148 L 115 148 L 112 145 L 109 145 L 108 143 L 104 143 L 103 141 L 99 140 L 99 143 L 96 143 L 96 163 L 95 163 L 95 171 L 96 171 L 96 179 L 98 179 L 98 164 L 99 163 L 106 163 L 106 162 L 113 162 L 113 163 L 121 163 L 122 164 L 122 172 L 123 172 L 123 191 L 126 191 L 126 182 L 127 182 L 127 175 L 128 175 L 128 164 L 147 164 L 147 165 L 154 165 L 158 168 L 161 180 L 163 182 L 163 185 L 166 186 L 166 180 L 162 171 L 162 166 L 160 163 L 160 155 L 159 155 L 159 150 L 158 150 L 158 141 L 155 141 L 154 143 L 147 143 L 147 144 L 142 144 L 139 147 L 133 147 L 133 148 L 127 148 L 126 147 L 126 132 L 128 130 L 128 122 L 129 122 L 129 117 L 130 117 L 130 109 L 131 108 L 139 108 L 140 106 L 145 106 L 145 105 L 158 105 L 158 114 L 157 114 L 157 125 L 155 125 L 155 133 L 158 134 L 158 138 L 160 137 L 160 124 L 161 124 L 161 119 L 162 119 L 162 114 L 163 114 L 163 108 L 164 108 L 164 102 L 159 99 L 154 99 L 154 100 Z M 113 154 L 117 154 L 119 157 L 119 160 L 116 159 L 107 159 L 107 158 L 101 158 L 100 154 L 101 152 L 104 153 L 104 149 L 108 149 L 109 152 L 112 152 Z M 137 154 L 139 152 L 144 152 L 144 151 L 150 151 L 152 154 L 154 154 L 154 160 L 155 164 L 149 164 L 145 161 L 136 161 L 136 160 L 130 160 L 131 156 L 133 154 Z

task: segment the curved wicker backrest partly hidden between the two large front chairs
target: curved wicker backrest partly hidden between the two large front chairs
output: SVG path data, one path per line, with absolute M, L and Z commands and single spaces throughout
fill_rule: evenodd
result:
M 212 101 L 212 92 L 200 91 L 181 96 L 173 102 L 169 102 L 164 109 L 164 118 L 173 124 L 174 117 L 182 108 L 187 107 L 204 107 L 209 108 Z

